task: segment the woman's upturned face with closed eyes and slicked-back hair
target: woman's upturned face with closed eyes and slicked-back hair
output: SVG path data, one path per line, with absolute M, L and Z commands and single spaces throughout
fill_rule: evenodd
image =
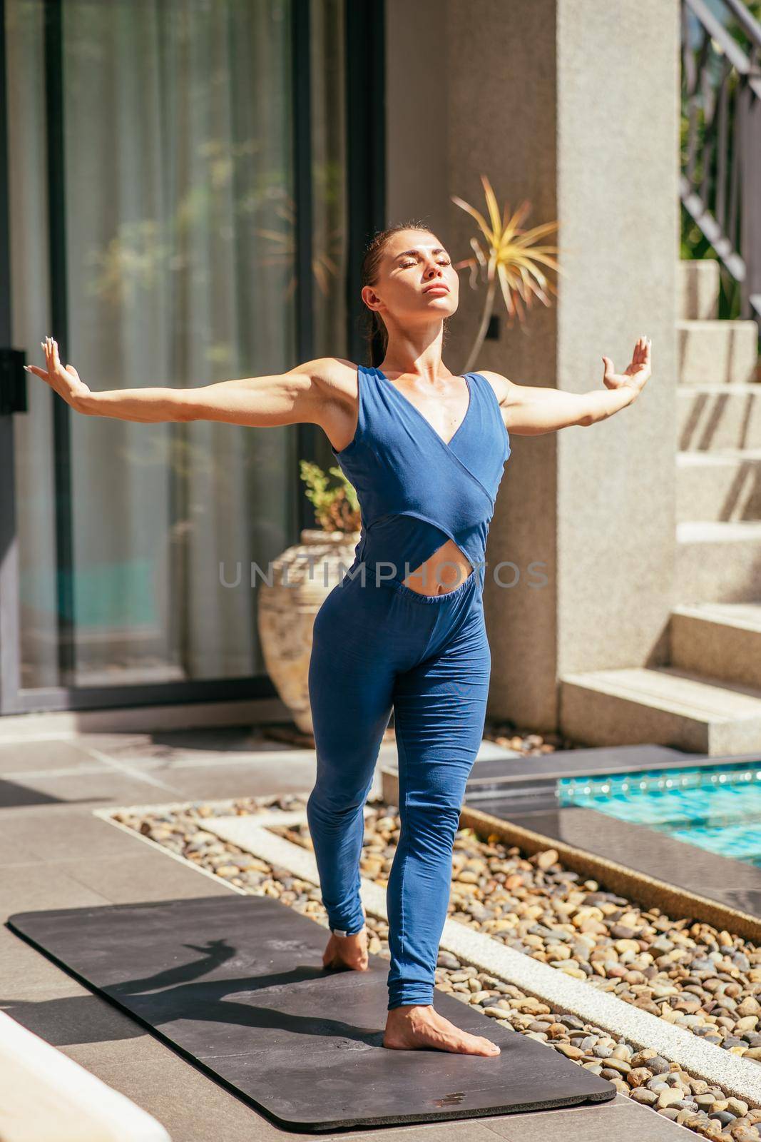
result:
M 386 243 L 378 281 L 364 286 L 362 297 L 387 325 L 440 322 L 458 308 L 460 279 L 435 234 L 399 230 Z

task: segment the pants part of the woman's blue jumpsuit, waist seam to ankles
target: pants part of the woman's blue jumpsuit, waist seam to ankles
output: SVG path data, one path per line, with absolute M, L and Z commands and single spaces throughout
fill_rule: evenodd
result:
M 400 834 L 387 887 L 388 1006 L 432 1004 L 465 782 L 480 747 L 492 658 L 479 569 L 421 595 L 367 571 L 315 618 L 309 699 L 317 780 L 309 831 L 330 926 L 364 924 L 363 806 L 394 709 Z

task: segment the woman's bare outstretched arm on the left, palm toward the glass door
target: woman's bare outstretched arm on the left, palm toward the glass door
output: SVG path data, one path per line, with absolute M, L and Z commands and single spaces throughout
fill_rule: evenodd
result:
M 52 338 L 46 338 L 42 347 L 47 369 L 26 368 L 46 380 L 76 412 L 87 416 L 143 424 L 219 420 L 250 427 L 303 421 L 323 426 L 326 404 L 334 395 L 330 392 L 334 357 L 307 361 L 284 373 L 220 380 L 195 388 L 115 388 L 94 393 L 73 365 L 60 363 Z

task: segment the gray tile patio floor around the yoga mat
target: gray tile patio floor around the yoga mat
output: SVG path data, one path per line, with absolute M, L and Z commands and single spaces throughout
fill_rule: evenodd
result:
M 228 894 L 222 884 L 92 815 L 108 805 L 305 790 L 310 750 L 243 730 L 83 734 L 0 743 L 0 911 Z M 30 803 L 30 798 L 37 801 Z M 153 1113 L 175 1142 L 259 1142 L 290 1132 L 91 995 L 0 926 L 0 1007 Z M 381 1016 L 382 1018 L 382 1016 Z M 549 1048 L 548 1048 L 549 1049 Z M 596 1108 L 321 1135 L 367 1142 L 685 1142 L 688 1131 L 618 1096 Z

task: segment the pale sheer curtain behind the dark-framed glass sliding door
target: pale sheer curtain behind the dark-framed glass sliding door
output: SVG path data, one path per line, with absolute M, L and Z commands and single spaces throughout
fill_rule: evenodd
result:
M 338 9 L 321 6 L 329 35 Z M 290 11 L 286 0 L 63 5 L 65 355 L 91 388 L 296 363 Z M 49 320 L 43 5 L 6 0 L 6 14 L 14 345 L 41 364 L 41 338 L 63 336 Z M 326 166 L 340 167 L 341 146 L 325 144 Z M 342 199 L 319 210 L 339 228 L 334 313 Z M 24 685 L 264 671 L 250 566 L 297 536 L 296 429 L 71 412 L 76 669 L 60 678 L 54 397 L 34 377 L 27 391 L 15 418 Z

